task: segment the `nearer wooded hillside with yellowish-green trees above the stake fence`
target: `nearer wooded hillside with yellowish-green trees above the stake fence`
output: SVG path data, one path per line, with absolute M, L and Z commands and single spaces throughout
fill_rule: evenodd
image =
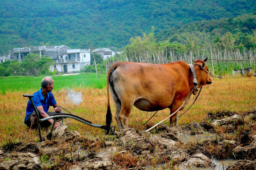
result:
M 198 21 L 182 27 L 173 27 L 154 35 L 154 27 L 150 34 L 143 34 L 130 39 L 126 46 L 128 56 L 138 57 L 156 51 L 174 50 L 175 54 L 186 51 L 200 55 L 199 52 L 216 49 L 220 53 L 233 49 L 250 50 L 256 47 L 256 12 L 235 18 Z M 199 52 L 198 52 L 199 51 Z M 197 54 L 196 54 L 197 53 Z M 155 53 L 156 55 L 156 53 Z

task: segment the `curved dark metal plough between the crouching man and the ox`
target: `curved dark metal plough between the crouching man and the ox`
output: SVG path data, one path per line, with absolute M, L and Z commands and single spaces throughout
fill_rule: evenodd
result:
M 97 125 L 97 124 L 93 124 L 92 122 L 88 121 L 88 120 L 85 120 L 83 118 L 80 118 L 79 116 L 76 116 L 76 115 L 73 115 L 73 114 L 69 114 L 69 113 L 56 113 L 52 116 L 49 116 L 47 118 L 43 118 L 43 119 L 40 119 L 39 117 L 39 112 L 38 110 L 36 109 L 35 105 L 34 105 L 34 102 L 32 100 L 32 97 L 34 97 L 34 95 L 31 95 L 31 94 L 23 94 L 23 97 L 28 97 L 30 102 L 32 103 L 33 107 L 34 107 L 34 111 L 36 113 L 36 119 L 37 119 L 37 126 L 38 126 L 38 132 L 39 132 L 39 137 L 40 137 L 40 142 L 42 142 L 42 136 L 41 136 L 41 127 L 40 127 L 40 122 L 43 122 L 43 121 L 46 121 L 46 120 L 49 120 L 49 119 L 53 119 L 53 123 L 51 125 L 51 131 L 50 133 L 47 135 L 47 139 L 51 139 L 51 136 L 52 136 L 52 130 L 53 130 L 53 127 L 54 127 L 54 124 L 56 122 L 56 119 L 57 118 L 71 118 L 71 119 L 75 119 L 75 120 L 78 120 L 82 123 L 85 123 L 86 125 L 89 125 L 89 126 L 92 126 L 92 127 L 98 127 L 98 128 L 102 128 L 106 131 L 110 131 L 111 134 L 114 134 L 115 132 L 115 128 L 109 126 L 109 125 Z

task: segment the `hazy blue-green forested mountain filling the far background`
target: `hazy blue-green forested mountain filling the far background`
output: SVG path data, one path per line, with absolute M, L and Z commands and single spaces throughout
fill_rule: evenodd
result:
M 1 0 L 0 54 L 39 45 L 124 49 L 131 37 L 150 33 L 152 26 L 157 40 L 164 41 L 184 24 L 255 11 L 255 0 Z M 214 28 L 202 29 L 212 33 Z

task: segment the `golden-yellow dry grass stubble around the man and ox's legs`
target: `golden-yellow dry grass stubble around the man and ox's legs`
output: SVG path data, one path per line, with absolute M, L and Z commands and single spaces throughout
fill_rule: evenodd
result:
M 179 124 L 187 124 L 192 121 L 200 122 L 208 112 L 231 110 L 234 112 L 246 112 L 256 107 L 256 77 L 224 77 L 213 78 L 212 85 L 203 87 L 195 104 L 179 118 Z M 76 92 L 82 93 L 83 102 L 79 105 L 73 104 L 67 98 L 68 90 L 54 91 L 57 103 L 69 110 L 71 113 L 87 119 L 94 124 L 104 125 L 107 105 L 106 88 L 76 88 Z M 23 94 L 34 92 L 6 93 L 0 97 L 0 145 L 17 142 L 38 141 L 38 133 L 27 133 L 28 127 L 24 124 L 26 116 L 26 104 L 28 98 Z M 191 97 L 188 104 L 192 104 L 195 96 Z M 188 108 L 187 106 L 187 108 Z M 51 107 L 51 110 L 52 107 Z M 114 103 L 111 101 L 112 115 L 115 113 Z M 154 113 L 140 111 L 133 107 L 129 117 L 129 127 L 138 127 L 149 119 Z M 148 123 L 153 126 L 169 115 L 169 109 L 158 111 L 156 116 Z M 179 113 L 180 114 L 180 113 Z M 64 120 L 71 130 L 77 130 L 81 135 L 104 138 L 104 131 L 99 128 L 90 127 L 74 119 Z M 113 119 L 112 125 L 116 122 Z M 145 127 L 142 127 L 145 128 Z M 43 135 L 48 132 L 43 129 Z

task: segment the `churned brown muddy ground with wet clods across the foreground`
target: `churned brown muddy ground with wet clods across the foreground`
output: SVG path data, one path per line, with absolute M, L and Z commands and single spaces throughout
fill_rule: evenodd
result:
M 151 132 L 127 129 L 104 138 L 61 126 L 54 139 L 0 148 L 0 170 L 254 170 L 256 110 L 208 113 L 200 123 Z

